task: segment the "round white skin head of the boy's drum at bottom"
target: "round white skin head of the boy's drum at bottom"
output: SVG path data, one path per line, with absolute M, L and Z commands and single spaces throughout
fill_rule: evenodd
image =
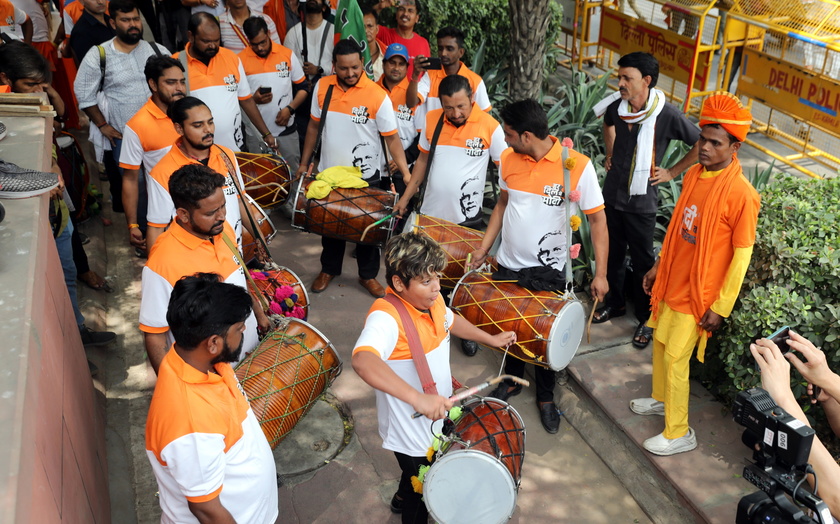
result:
M 429 468 L 423 499 L 440 524 L 503 524 L 516 509 L 516 485 L 494 457 L 461 449 L 445 454 Z

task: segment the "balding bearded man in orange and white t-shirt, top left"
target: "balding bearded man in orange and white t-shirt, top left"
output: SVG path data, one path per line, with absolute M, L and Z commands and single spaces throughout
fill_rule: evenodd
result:
M 274 135 L 260 115 L 251 97 L 251 87 L 242 62 L 236 53 L 221 47 L 219 21 L 204 12 L 190 17 L 189 43 L 175 58 L 184 64 L 189 94 L 207 104 L 216 119 L 218 143 L 233 151 L 245 144 L 242 136 L 242 113 L 245 112 L 263 141 L 276 148 Z M 183 54 L 183 55 L 182 55 Z

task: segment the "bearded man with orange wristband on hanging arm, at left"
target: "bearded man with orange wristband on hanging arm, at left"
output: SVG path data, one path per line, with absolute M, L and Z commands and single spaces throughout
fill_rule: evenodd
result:
M 170 104 L 184 98 L 184 66 L 171 56 L 153 56 L 146 62 L 149 100 L 131 117 L 123 132 L 120 167 L 123 169 L 123 207 L 128 240 L 135 249 L 146 250 L 146 179 L 152 168 L 178 139 L 172 120 L 166 116 Z M 145 176 L 140 179 L 140 168 Z

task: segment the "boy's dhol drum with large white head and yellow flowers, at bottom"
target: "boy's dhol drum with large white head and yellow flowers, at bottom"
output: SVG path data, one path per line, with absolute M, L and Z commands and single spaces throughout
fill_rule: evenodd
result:
M 441 524 L 502 524 L 516 509 L 525 425 L 507 402 L 464 404 L 450 442 L 426 472 L 423 499 Z

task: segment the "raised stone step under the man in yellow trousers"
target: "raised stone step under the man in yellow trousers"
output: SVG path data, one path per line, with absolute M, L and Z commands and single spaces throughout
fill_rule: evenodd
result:
M 568 368 L 568 387 L 560 389 L 559 403 L 569 423 L 654 522 L 733 522 L 738 501 L 756 491 L 741 478 L 751 456 L 741 443 L 743 428 L 692 381 L 689 422 L 697 449 L 671 457 L 648 453 L 642 442 L 662 432 L 664 419 L 636 415 L 628 404 L 650 396 L 652 346 L 639 351 L 627 343 L 599 342 L 601 348 L 582 348 Z

